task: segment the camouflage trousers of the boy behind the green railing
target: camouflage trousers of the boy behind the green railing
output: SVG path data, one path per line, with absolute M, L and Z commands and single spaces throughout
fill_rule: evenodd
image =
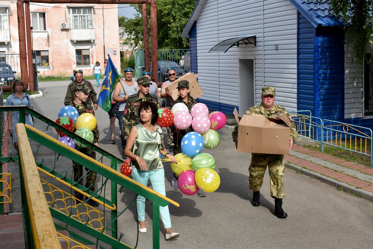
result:
M 96 160 L 96 152 L 90 153 L 89 150 L 90 149 L 88 148 L 81 148 L 80 152 Z M 83 166 L 78 163 L 74 163 L 73 170 L 74 170 L 74 181 L 77 182 L 79 185 L 83 186 Z M 94 171 L 91 171 L 89 168 L 85 168 L 85 170 L 87 171 L 87 180 L 85 181 L 85 187 L 87 189 L 90 189 L 91 191 L 94 191 L 94 185 L 96 182 L 97 173 Z M 83 199 L 83 195 L 77 191 L 75 191 L 75 197 L 78 199 Z

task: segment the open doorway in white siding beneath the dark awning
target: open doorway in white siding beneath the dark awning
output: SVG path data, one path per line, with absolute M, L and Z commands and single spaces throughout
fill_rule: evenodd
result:
M 238 59 L 239 116 L 254 106 L 254 59 Z

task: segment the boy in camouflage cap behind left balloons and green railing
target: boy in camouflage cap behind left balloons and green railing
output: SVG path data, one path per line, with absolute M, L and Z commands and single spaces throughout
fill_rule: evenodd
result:
M 72 105 L 73 107 L 76 108 L 76 110 L 78 110 L 79 116 L 83 113 L 91 113 L 94 115 L 94 109 L 92 105 L 86 103 L 88 99 L 88 94 L 91 91 L 92 90 L 88 89 L 86 85 L 77 85 L 77 86 L 74 86 L 73 88 L 74 95 L 73 95 L 73 100 L 71 101 L 70 105 Z M 98 131 L 97 125 L 92 130 L 92 132 L 94 136 L 93 144 L 98 146 L 100 132 Z M 88 147 L 79 148 L 78 150 L 82 152 L 83 154 L 88 155 L 88 157 L 91 157 L 94 160 L 96 160 L 96 152 L 91 151 L 90 148 Z M 83 166 L 78 163 L 74 163 L 73 170 L 74 170 L 74 181 L 80 185 L 83 185 Z M 85 168 L 85 170 L 87 170 L 87 180 L 85 183 L 85 187 L 94 192 L 94 185 L 96 182 L 97 173 L 91 171 L 88 168 Z M 83 200 L 84 196 L 81 193 L 75 191 L 75 197 L 80 200 Z M 88 200 L 87 203 L 92 206 L 98 206 L 98 203 L 93 201 L 92 199 Z

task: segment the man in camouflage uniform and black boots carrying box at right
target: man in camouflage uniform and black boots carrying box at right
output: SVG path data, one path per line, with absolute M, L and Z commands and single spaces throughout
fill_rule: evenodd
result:
M 289 114 L 285 108 L 280 105 L 275 105 L 276 89 L 271 86 L 263 87 L 261 93 L 261 104 L 251 107 L 245 112 L 245 115 L 269 117 L 273 119 L 279 119 L 282 112 L 284 111 L 286 116 Z M 292 121 L 292 120 L 291 120 Z M 238 124 L 232 132 L 233 141 L 236 144 L 238 141 Z M 295 139 L 298 138 L 297 130 L 295 129 L 294 122 L 290 126 L 290 138 L 289 146 L 290 149 Z M 270 145 L 271 141 L 267 141 Z M 278 218 L 286 218 L 286 214 L 282 209 L 282 199 L 285 197 L 283 187 L 283 174 L 285 172 L 285 162 L 283 155 L 277 154 L 251 154 L 251 164 L 249 167 L 249 185 L 250 189 L 253 190 L 253 202 L 254 207 L 260 205 L 260 187 L 263 185 L 263 177 L 268 166 L 269 177 L 270 177 L 270 191 L 272 198 L 275 199 L 275 215 Z

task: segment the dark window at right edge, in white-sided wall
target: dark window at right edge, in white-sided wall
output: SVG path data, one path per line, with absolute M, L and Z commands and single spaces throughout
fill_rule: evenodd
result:
M 364 116 L 373 116 L 373 60 L 367 54 L 364 61 Z

